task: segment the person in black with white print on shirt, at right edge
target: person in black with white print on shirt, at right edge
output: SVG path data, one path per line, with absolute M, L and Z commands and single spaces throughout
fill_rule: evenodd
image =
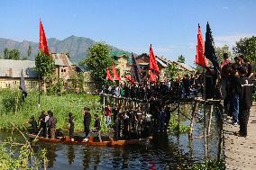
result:
M 252 88 L 253 84 L 251 80 L 247 77 L 246 67 L 240 67 L 240 84 L 241 84 L 241 94 L 240 94 L 240 130 L 236 134 L 241 137 L 247 136 L 247 124 L 249 121 L 250 109 L 252 105 Z

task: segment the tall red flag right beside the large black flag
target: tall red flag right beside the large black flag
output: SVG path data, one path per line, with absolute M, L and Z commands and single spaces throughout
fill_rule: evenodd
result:
M 198 34 L 197 34 L 197 56 L 196 64 L 202 67 L 207 67 L 208 60 L 205 58 L 205 42 L 203 40 L 203 35 L 200 29 L 200 24 L 198 23 Z

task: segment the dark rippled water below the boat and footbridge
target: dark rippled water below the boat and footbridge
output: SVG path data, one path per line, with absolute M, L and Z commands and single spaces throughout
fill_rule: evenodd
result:
M 188 121 L 185 121 L 188 123 Z M 48 168 L 58 169 L 186 169 L 204 160 L 202 123 L 195 124 L 194 139 L 188 140 L 187 134 L 172 136 L 158 135 L 143 146 L 125 148 L 92 147 L 38 143 L 37 149 L 46 148 L 49 159 Z M 212 136 L 208 145 L 208 157 L 216 158 L 218 150 L 218 129 L 215 119 Z M 0 139 L 10 133 L 0 132 Z M 19 140 L 22 138 L 15 135 Z

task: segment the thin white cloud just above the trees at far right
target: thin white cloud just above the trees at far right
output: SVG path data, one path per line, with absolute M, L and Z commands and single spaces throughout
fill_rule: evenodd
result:
M 233 47 L 235 45 L 235 42 L 244 38 L 244 37 L 251 37 L 252 35 L 255 35 L 256 33 L 235 33 L 231 35 L 221 35 L 215 37 L 215 46 L 222 47 L 225 44 L 229 47 Z

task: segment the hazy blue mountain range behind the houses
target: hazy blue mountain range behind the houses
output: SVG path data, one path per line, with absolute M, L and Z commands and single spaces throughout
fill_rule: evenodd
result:
M 50 48 L 50 52 L 66 52 L 69 53 L 70 60 L 74 64 L 78 64 L 81 59 L 85 59 L 87 57 L 87 49 L 94 45 L 96 41 L 77 36 L 70 36 L 64 40 L 58 40 L 55 38 L 48 39 L 48 46 Z M 3 39 L 0 38 L 0 55 L 4 56 L 4 50 L 7 49 L 19 49 L 21 51 L 21 57 L 27 57 L 29 46 L 32 47 L 32 55 L 31 58 L 34 60 L 35 55 L 38 52 L 38 43 L 23 40 L 22 42 Z M 121 55 L 123 53 L 130 54 L 128 51 L 124 51 L 122 49 L 117 49 L 113 46 L 110 46 L 112 49 L 112 55 Z

